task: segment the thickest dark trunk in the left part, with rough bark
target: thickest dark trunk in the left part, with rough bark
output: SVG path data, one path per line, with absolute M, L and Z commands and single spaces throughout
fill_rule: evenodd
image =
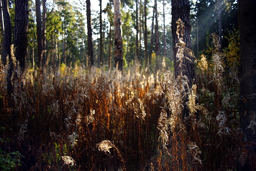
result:
M 25 69 L 27 33 L 29 25 L 29 1 L 15 0 L 15 24 L 13 31 L 13 44 L 16 60 L 19 61 L 21 72 Z

